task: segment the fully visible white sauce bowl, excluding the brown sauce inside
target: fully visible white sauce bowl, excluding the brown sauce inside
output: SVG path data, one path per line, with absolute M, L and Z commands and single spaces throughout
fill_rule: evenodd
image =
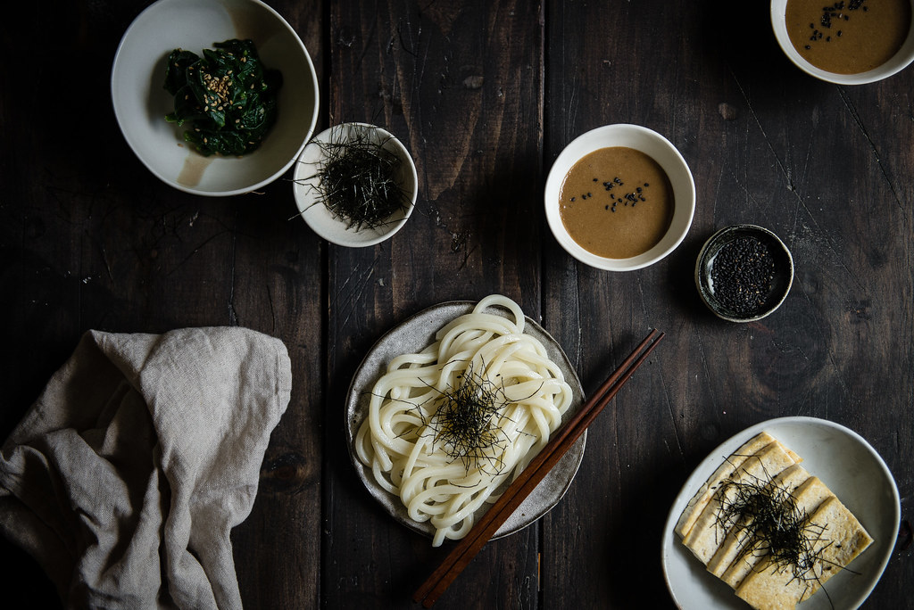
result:
M 605 258 L 581 247 L 569 235 L 559 216 L 559 195 L 565 176 L 581 157 L 612 146 L 625 146 L 647 154 L 660 164 L 673 186 L 674 212 L 666 235 L 650 250 L 632 258 Z M 559 245 L 580 262 L 609 271 L 632 271 L 653 265 L 682 243 L 695 216 L 695 180 L 685 159 L 656 131 L 619 123 L 604 125 L 579 135 L 565 147 L 552 164 L 546 180 L 546 220 Z

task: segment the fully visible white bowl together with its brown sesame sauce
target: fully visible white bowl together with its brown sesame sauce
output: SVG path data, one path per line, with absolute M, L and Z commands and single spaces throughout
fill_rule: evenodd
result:
M 695 180 L 664 136 L 640 125 L 604 125 L 559 153 L 545 189 L 558 244 L 593 268 L 632 271 L 682 243 L 695 216 Z

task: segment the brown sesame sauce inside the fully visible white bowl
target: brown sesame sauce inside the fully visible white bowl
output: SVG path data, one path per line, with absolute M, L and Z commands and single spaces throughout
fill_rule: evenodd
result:
M 673 205 L 673 188 L 660 164 L 641 151 L 614 146 L 571 167 L 558 212 L 584 249 L 605 258 L 632 258 L 664 237 Z

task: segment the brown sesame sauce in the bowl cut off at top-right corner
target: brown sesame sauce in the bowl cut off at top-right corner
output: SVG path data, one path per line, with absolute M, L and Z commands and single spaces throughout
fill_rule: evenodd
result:
M 788 0 L 787 34 L 802 58 L 835 74 L 878 68 L 905 42 L 910 0 Z

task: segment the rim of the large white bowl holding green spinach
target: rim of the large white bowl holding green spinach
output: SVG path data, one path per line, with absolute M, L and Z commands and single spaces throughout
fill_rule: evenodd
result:
M 207 189 L 197 188 L 195 186 L 181 184 L 181 183 L 177 182 L 176 180 L 173 180 L 173 179 L 169 178 L 168 176 L 166 176 L 162 171 L 157 169 L 157 167 L 154 165 L 154 163 L 152 163 L 152 161 L 150 159 L 148 159 L 146 156 L 142 155 L 140 153 L 139 147 L 136 145 L 135 135 L 133 134 L 132 131 L 125 128 L 125 125 L 127 124 L 127 118 L 122 116 L 122 107 L 121 107 L 121 104 L 118 103 L 119 94 L 117 91 L 117 76 L 119 73 L 119 69 L 123 68 L 122 67 L 123 51 L 130 44 L 130 41 L 132 39 L 131 35 L 135 34 L 136 31 L 140 31 L 140 28 L 144 25 L 143 22 L 145 19 L 150 18 L 157 11 L 165 10 L 165 8 L 167 8 L 167 5 L 187 4 L 187 0 L 156 0 L 151 5 L 148 5 L 145 8 L 143 8 L 143 10 L 139 14 L 137 14 L 137 16 L 133 17 L 133 21 L 124 30 L 121 40 L 118 42 L 117 49 L 114 52 L 114 58 L 112 61 L 111 78 L 109 79 L 110 80 L 110 89 L 111 89 L 111 98 L 112 98 L 112 107 L 114 110 L 115 121 L 117 121 L 118 127 L 120 128 L 120 131 L 122 133 L 124 140 L 127 142 L 127 145 L 130 147 L 131 151 L 133 151 L 133 154 L 140 160 L 140 163 L 143 163 L 143 165 L 146 167 L 146 169 L 151 174 L 153 174 L 156 178 L 158 178 L 165 184 L 168 184 L 172 188 L 175 188 L 176 190 L 179 190 L 179 191 L 183 191 L 185 193 L 189 193 L 191 195 L 202 195 L 202 196 L 209 196 L 209 197 L 226 197 L 226 196 L 233 196 L 233 195 L 244 195 L 244 194 L 250 193 L 251 191 L 255 191 L 259 188 L 262 188 L 263 186 L 266 186 L 267 184 L 271 184 L 271 183 L 275 182 L 278 178 L 280 178 L 282 176 L 282 174 L 285 174 L 289 170 L 289 168 L 292 167 L 292 163 L 295 163 L 295 160 L 298 158 L 299 154 L 302 153 L 303 148 L 308 143 L 311 136 L 314 134 L 314 127 L 317 124 L 317 117 L 320 113 L 320 89 L 318 89 L 317 72 L 314 68 L 314 60 L 311 58 L 311 54 L 308 52 L 307 47 L 304 46 L 304 42 L 303 42 L 302 38 L 298 36 L 298 33 L 295 31 L 295 29 L 289 24 L 288 21 L 285 20 L 285 18 L 282 15 L 279 14 L 279 12 L 277 12 L 271 5 L 268 5 L 265 2 L 262 2 L 262 0 L 231 0 L 231 1 L 238 3 L 238 4 L 257 5 L 260 8 L 260 10 L 263 10 L 266 13 L 270 14 L 276 20 L 276 23 L 278 24 L 278 26 L 284 28 L 288 34 L 292 35 L 292 40 L 295 42 L 297 47 L 299 47 L 299 49 L 301 50 L 305 63 L 307 64 L 307 67 L 308 67 L 307 72 L 308 72 L 308 75 L 310 76 L 310 83 L 308 83 L 308 84 L 314 90 L 314 111 L 313 111 L 311 119 L 309 121 L 307 131 L 305 131 L 305 133 L 304 133 L 302 142 L 299 143 L 297 150 L 295 150 L 294 153 L 289 156 L 289 159 L 285 163 L 282 164 L 282 167 L 279 168 L 277 171 L 273 172 L 268 177 L 263 178 L 254 184 L 250 184 L 250 186 L 244 186 L 244 187 L 228 189 L 228 190 L 207 190 Z M 210 2 L 212 4 L 218 4 L 218 5 L 226 4 L 223 0 L 207 0 L 207 2 Z M 305 78 L 307 78 L 307 77 L 305 77 Z M 201 157 L 201 158 L 207 159 L 207 157 Z

